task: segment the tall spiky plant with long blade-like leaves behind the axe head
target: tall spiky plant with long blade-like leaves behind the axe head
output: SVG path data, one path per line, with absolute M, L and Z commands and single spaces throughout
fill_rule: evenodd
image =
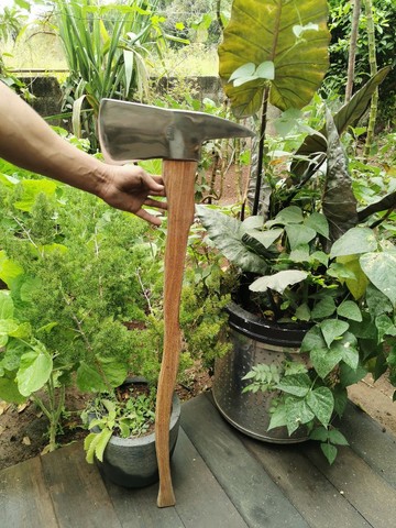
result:
M 166 35 L 157 0 L 98 6 L 91 0 L 56 1 L 56 24 L 70 75 L 64 109 L 73 110 L 74 132 L 81 130 L 96 151 L 100 100 L 147 97 L 148 64 L 158 61 Z

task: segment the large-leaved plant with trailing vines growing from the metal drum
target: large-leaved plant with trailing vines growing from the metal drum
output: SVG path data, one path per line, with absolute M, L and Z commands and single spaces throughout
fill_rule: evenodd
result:
M 388 68 L 334 116 L 324 111 L 323 128 L 307 135 L 276 184 L 265 165 L 267 103 L 284 111 L 310 101 L 328 66 L 326 18 L 326 1 L 234 1 L 220 75 L 235 116 L 261 117 L 253 216 L 204 206 L 198 216 L 241 273 L 234 299 L 277 323 L 308 326 L 305 361 L 257 365 L 245 391 L 274 392 L 270 429 L 293 435 L 306 425 L 332 463 L 337 446 L 348 443 L 334 425 L 346 387 L 367 372 L 387 373 L 396 386 L 396 246 L 382 224 L 396 198 L 358 204 L 340 141 Z

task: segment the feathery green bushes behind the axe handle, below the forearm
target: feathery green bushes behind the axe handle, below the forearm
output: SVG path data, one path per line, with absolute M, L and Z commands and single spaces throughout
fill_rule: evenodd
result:
M 0 397 L 32 397 L 50 419 L 54 449 L 68 385 L 111 394 L 130 373 L 156 385 L 166 222 L 154 230 L 2 161 L 0 208 Z M 194 359 L 210 363 L 226 348 L 218 343 L 228 299 L 219 257 L 199 252 L 198 237 L 183 293 L 182 326 L 191 340 L 182 376 Z

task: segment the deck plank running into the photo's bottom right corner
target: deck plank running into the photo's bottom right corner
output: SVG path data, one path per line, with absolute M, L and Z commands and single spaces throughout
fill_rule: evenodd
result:
M 374 528 L 395 526 L 396 493 L 350 448 L 340 448 L 337 461 L 329 465 L 316 446 L 304 448 L 318 470 Z

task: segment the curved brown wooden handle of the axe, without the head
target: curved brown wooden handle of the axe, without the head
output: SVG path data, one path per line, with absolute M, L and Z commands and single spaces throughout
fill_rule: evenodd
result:
M 189 228 L 194 220 L 197 162 L 163 162 L 168 204 L 164 278 L 164 352 L 157 388 L 155 444 L 160 472 L 160 508 L 175 505 L 169 460 L 169 420 L 175 391 L 182 332 L 179 305 Z

